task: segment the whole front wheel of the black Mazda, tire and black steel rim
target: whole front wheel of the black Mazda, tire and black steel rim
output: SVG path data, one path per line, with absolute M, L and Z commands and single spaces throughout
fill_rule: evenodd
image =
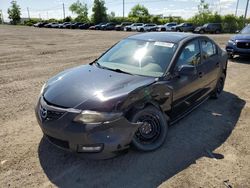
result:
M 132 145 L 139 151 L 153 151 L 165 141 L 168 132 L 168 122 L 164 114 L 153 106 L 134 113 L 132 122 L 144 122 L 132 139 Z

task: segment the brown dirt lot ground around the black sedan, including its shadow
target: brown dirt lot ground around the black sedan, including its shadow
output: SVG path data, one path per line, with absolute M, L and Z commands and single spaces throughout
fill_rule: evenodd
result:
M 229 62 L 222 97 L 171 127 L 155 152 L 92 161 L 42 138 L 42 84 L 131 34 L 0 26 L 0 187 L 250 187 L 249 59 Z M 212 37 L 224 48 L 230 35 Z

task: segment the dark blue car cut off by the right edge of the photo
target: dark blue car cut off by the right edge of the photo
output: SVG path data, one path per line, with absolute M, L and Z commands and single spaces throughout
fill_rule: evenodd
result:
M 247 25 L 237 35 L 229 39 L 226 51 L 229 58 L 233 58 L 234 55 L 250 56 L 250 25 Z

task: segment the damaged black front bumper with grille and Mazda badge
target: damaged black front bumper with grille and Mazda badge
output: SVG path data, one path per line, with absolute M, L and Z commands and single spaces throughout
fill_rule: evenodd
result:
M 140 123 L 125 117 L 102 123 L 74 122 L 79 110 L 64 109 L 39 99 L 35 113 L 45 137 L 54 145 L 90 158 L 110 158 L 127 149 Z

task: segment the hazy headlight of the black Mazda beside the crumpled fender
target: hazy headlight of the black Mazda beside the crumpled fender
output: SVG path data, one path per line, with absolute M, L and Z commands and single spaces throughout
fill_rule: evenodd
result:
M 84 110 L 75 117 L 74 121 L 79 123 L 101 123 L 106 121 L 112 121 L 122 116 L 122 113 L 107 113 Z

